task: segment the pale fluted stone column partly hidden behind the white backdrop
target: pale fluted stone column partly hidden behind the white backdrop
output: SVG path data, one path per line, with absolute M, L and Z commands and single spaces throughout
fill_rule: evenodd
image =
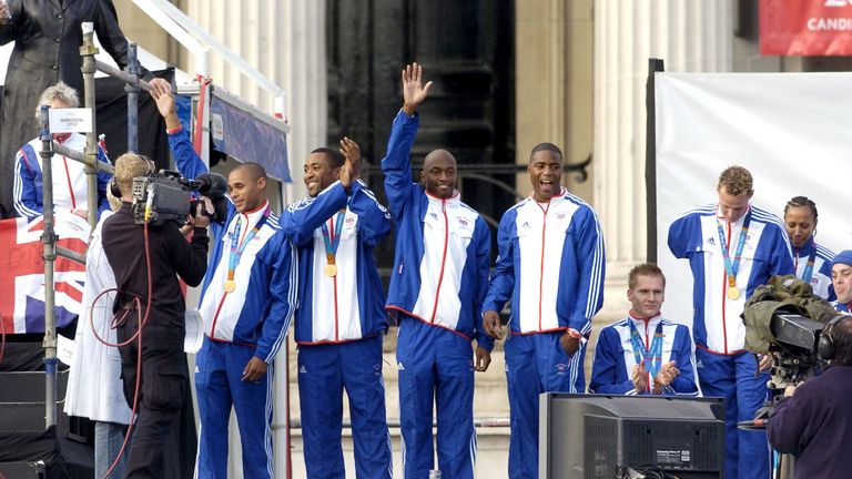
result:
M 647 257 L 648 59 L 663 59 L 670 72 L 731 71 L 732 19 L 731 0 L 595 1 L 592 165 L 607 246 L 601 322 L 625 314 L 627 273 Z

